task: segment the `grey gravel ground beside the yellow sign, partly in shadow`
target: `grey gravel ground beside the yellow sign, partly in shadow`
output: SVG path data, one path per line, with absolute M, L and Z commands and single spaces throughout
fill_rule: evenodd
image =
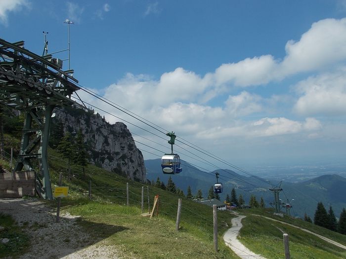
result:
M 0 213 L 11 215 L 31 237 L 31 248 L 20 259 L 118 259 L 114 246 L 97 242 L 76 223 L 78 216 L 60 214 L 39 199 L 0 199 Z

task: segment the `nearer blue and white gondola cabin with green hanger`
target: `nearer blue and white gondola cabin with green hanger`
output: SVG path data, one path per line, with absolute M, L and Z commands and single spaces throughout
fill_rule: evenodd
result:
M 164 174 L 179 174 L 182 171 L 182 168 L 180 167 L 180 157 L 178 154 L 174 154 L 173 152 L 173 145 L 174 140 L 176 138 L 174 132 L 169 132 L 166 134 L 167 136 L 171 137 L 171 139 L 168 141 L 169 144 L 171 144 L 172 152 L 170 154 L 164 154 L 161 159 L 161 167 L 162 172 Z

